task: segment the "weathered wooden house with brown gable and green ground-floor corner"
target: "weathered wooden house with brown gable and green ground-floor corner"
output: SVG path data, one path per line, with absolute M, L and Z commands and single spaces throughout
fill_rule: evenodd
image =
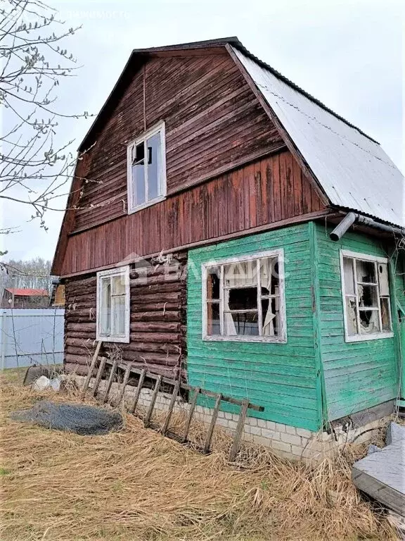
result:
M 404 405 L 403 205 L 380 144 L 237 38 L 134 50 L 53 261 L 65 368 L 103 340 L 261 404 L 247 437 L 288 456 L 356 437 Z

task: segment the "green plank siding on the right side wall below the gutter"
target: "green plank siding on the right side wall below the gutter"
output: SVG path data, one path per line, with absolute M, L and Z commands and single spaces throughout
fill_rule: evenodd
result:
M 330 230 L 323 225 L 315 225 L 315 230 L 319 253 L 321 358 L 328 419 L 332 421 L 397 396 L 397 337 L 345 342 L 340 249 L 383 257 L 387 254 L 372 237 L 347 232 L 340 242 L 333 242 L 328 236 Z M 393 301 L 393 291 L 391 294 Z

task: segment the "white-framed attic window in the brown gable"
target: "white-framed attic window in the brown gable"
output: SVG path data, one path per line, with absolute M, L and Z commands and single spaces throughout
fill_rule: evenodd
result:
M 129 213 L 165 199 L 165 123 L 129 144 L 127 165 Z

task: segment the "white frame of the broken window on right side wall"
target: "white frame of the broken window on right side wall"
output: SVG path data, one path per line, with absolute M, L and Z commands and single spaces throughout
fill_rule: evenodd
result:
M 373 332 L 372 334 L 365 334 L 365 335 L 349 335 L 347 332 L 348 326 L 347 326 L 347 309 L 346 309 L 346 291 L 345 291 L 345 271 L 343 267 L 343 259 L 345 257 L 349 257 L 354 259 L 354 292 L 356 294 L 356 305 L 357 305 L 357 317 L 359 317 L 359 296 L 357 293 L 357 276 L 356 276 L 356 260 L 360 261 L 372 261 L 373 263 L 385 263 L 388 265 L 388 259 L 386 257 L 380 257 L 380 256 L 371 256 L 369 254 L 361 254 L 357 251 L 351 251 L 351 250 L 340 250 L 340 278 L 341 278 L 341 284 L 342 284 L 342 302 L 343 302 L 343 321 L 345 324 L 345 342 L 365 342 L 366 340 L 380 340 L 382 338 L 392 338 L 394 336 L 394 332 L 392 331 L 392 310 L 391 310 L 391 291 L 390 296 L 388 298 L 388 306 L 390 310 L 390 325 L 391 330 L 390 331 L 381 331 L 381 332 Z M 390 275 L 388 275 L 388 283 L 389 287 L 391 289 L 390 284 Z M 378 280 L 377 276 L 377 287 L 378 287 L 378 314 L 379 318 L 381 320 L 381 307 L 380 307 L 380 282 Z M 359 325 L 359 323 L 358 323 Z M 380 321 L 380 325 L 382 328 L 382 323 Z

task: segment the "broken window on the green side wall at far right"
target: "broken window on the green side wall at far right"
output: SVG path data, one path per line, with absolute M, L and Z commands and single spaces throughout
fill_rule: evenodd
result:
M 366 340 L 392 330 L 387 259 L 342 252 L 348 340 Z

